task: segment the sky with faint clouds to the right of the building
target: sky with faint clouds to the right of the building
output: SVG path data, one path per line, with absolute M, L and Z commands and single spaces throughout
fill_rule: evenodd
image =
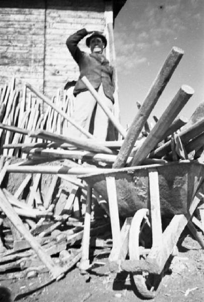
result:
M 115 19 L 114 40 L 120 121 L 130 125 L 173 46 L 184 51 L 153 115 L 158 118 L 179 88 L 194 89 L 179 115 L 189 118 L 204 102 L 204 1 L 127 0 Z

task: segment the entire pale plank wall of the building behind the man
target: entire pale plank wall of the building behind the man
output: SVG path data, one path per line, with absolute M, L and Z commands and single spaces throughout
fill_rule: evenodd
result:
M 105 6 L 104 0 L 1 0 L 0 86 L 15 74 L 17 85 L 29 82 L 51 97 L 77 80 L 66 38 L 86 26 L 104 31 Z

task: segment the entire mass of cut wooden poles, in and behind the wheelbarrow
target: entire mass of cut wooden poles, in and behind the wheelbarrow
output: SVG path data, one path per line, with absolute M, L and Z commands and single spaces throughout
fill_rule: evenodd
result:
M 33 96 L 27 106 L 25 91 L 21 101 L 20 98 L 15 99 L 13 84 L 10 86 L 13 88 L 7 93 L 2 91 L 2 150 L 3 155 L 9 157 L 6 162 L 2 157 L 0 174 L 1 272 L 21 269 L 22 272 L 12 275 L 19 277 L 48 270 L 53 279 L 58 279 L 80 260 L 81 250 L 72 255 L 73 250 L 70 248 L 82 239 L 85 199 L 89 186 L 76 175 L 103 173 L 108 169 L 113 171 L 112 169 L 128 166 L 165 165 L 180 159 L 199 158 L 204 145 L 204 117 L 196 118 L 197 113 L 189 121 L 177 117 L 193 95 L 192 88 L 183 85 L 179 89 L 162 116 L 154 118 L 155 125 L 152 129 L 148 122 L 182 55 L 181 49 L 174 47 L 171 50 L 143 104 L 139 104 L 140 109 L 127 132 L 114 115 L 104 108 L 88 80 L 82 78 L 123 137 L 118 141 L 97 141 L 77 125 L 67 114 L 70 105 L 65 97 L 63 106 L 58 106 L 58 103 L 56 106 L 27 84 L 27 89 L 48 105 L 43 114 L 39 100 L 35 100 Z M 66 122 L 75 125 L 87 138 L 67 136 L 69 123 L 67 125 Z M 14 155 L 21 157 L 17 164 L 11 163 L 10 157 Z M 50 164 L 51 162 L 53 163 Z M 14 191 L 11 183 L 14 182 L 12 177 L 15 174 L 15 181 L 20 179 L 20 175 L 23 178 Z M 46 183 L 45 174 L 51 176 L 49 184 L 43 188 L 43 181 Z M 98 192 L 93 190 L 93 195 L 99 204 L 104 204 Z M 105 210 L 108 214 L 108 209 Z M 107 230 L 106 216 L 102 216 L 102 220 L 93 219 L 91 236 Z M 30 246 L 32 250 L 29 249 Z M 101 246 L 107 246 L 106 242 Z M 50 255 L 59 257 L 51 258 Z

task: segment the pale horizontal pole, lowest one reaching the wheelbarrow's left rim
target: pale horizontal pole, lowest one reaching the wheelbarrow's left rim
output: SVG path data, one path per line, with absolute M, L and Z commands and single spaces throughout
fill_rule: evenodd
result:
M 17 166 L 10 165 L 7 168 L 9 173 L 44 173 L 44 174 L 89 174 L 89 173 L 103 173 L 112 172 L 111 169 L 99 169 L 99 168 L 69 168 L 64 166 Z

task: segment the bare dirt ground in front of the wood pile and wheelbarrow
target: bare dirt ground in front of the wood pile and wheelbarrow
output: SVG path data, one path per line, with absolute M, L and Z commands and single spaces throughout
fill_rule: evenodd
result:
M 204 301 L 204 252 L 189 235 L 178 246 L 179 253 L 166 270 L 159 286 L 155 302 L 202 302 Z M 131 284 L 131 276 L 125 272 L 110 273 L 108 256 L 110 249 L 95 250 L 94 261 L 101 266 L 94 268 L 89 275 L 81 275 L 73 268 L 58 282 L 53 282 L 27 296 L 19 294 L 42 285 L 47 274 L 37 278 L 0 281 L 0 302 L 127 302 L 146 301 Z M 105 264 L 105 265 L 102 265 Z

